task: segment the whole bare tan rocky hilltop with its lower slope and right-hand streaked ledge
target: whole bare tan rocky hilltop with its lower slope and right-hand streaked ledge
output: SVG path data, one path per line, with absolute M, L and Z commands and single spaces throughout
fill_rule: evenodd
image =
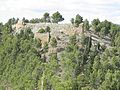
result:
M 38 33 L 38 31 L 41 28 L 45 29 L 47 26 L 50 27 L 50 33 Z M 22 29 L 24 30 L 25 28 L 31 28 L 32 32 L 34 33 L 34 38 L 41 40 L 42 47 L 45 46 L 45 43 L 51 42 L 50 38 L 55 38 L 57 40 L 56 47 L 52 47 L 50 43 L 48 43 L 48 52 L 41 53 L 41 56 L 43 58 L 46 58 L 47 62 L 49 62 L 50 60 L 49 56 L 51 55 L 51 53 L 57 53 L 57 57 L 60 60 L 62 52 L 69 43 L 69 37 L 72 35 L 76 35 L 78 41 L 77 44 L 79 47 L 82 47 L 80 43 L 82 33 L 84 33 L 85 36 L 91 36 L 93 45 L 100 43 L 101 45 L 103 44 L 108 47 L 110 46 L 111 43 L 109 38 L 101 39 L 98 35 L 94 34 L 92 30 L 84 31 L 82 24 L 78 28 L 74 27 L 71 24 L 53 24 L 53 23 L 24 24 L 21 21 L 19 21 L 16 25 L 13 25 L 15 33 L 19 33 L 20 30 Z

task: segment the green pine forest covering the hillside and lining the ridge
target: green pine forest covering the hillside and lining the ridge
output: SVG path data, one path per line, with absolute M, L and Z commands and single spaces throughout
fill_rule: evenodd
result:
M 59 12 L 52 18 L 52 23 L 64 20 Z M 45 13 L 42 23 L 50 20 Z M 47 61 L 40 50 L 47 53 L 48 43 L 42 47 L 30 28 L 14 33 L 12 25 L 17 21 L 12 18 L 0 23 L 0 90 L 120 90 L 120 25 L 99 19 L 90 24 L 77 14 L 71 25 L 79 27 L 83 23 L 86 32 L 92 28 L 99 37 L 110 37 L 110 47 L 93 45 L 91 37 L 84 34 L 79 41 L 73 35 L 61 58 L 52 53 Z M 41 19 L 23 21 L 40 23 Z M 49 27 L 47 30 L 50 32 Z M 56 47 L 56 39 L 52 38 L 50 44 Z

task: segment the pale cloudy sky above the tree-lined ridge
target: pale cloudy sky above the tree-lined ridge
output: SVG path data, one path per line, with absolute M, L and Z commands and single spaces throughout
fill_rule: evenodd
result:
M 65 18 L 63 23 L 80 14 L 90 21 L 99 18 L 120 24 L 120 0 L 0 0 L 0 22 L 12 17 L 41 18 L 56 11 Z

